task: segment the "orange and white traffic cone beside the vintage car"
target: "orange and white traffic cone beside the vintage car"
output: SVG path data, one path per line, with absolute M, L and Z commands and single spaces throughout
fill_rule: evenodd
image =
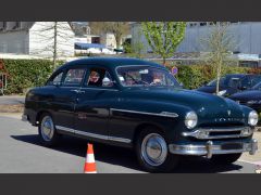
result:
M 92 144 L 87 144 L 87 155 L 85 160 L 85 173 L 97 173 L 96 171 L 96 162 L 95 162 L 95 154 Z

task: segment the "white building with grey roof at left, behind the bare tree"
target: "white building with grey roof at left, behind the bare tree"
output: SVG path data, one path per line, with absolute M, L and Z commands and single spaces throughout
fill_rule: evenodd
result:
M 67 22 L 57 23 L 57 53 L 74 55 L 74 31 Z M 0 53 L 49 57 L 53 55 L 54 22 L 0 22 Z

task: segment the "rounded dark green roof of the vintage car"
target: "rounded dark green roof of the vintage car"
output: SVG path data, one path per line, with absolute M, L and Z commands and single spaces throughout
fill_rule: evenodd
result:
M 101 65 L 102 67 L 108 68 L 115 68 L 117 66 L 127 65 L 150 65 L 157 68 L 165 68 L 163 65 L 153 62 L 130 57 L 86 57 L 69 62 L 61 66 L 60 68 L 71 67 L 74 65 Z

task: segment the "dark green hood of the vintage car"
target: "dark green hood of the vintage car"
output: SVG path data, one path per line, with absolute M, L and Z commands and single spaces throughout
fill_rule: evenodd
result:
M 133 88 L 129 89 L 128 93 L 135 93 L 134 95 L 137 99 L 171 102 L 175 105 L 186 106 L 195 110 L 202 118 L 213 118 L 217 116 L 243 118 L 244 116 L 241 106 L 236 102 L 199 91 L 175 88 Z

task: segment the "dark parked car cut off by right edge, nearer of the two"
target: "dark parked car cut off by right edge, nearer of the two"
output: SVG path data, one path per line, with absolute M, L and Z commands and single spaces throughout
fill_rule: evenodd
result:
M 238 102 L 241 105 L 247 105 L 258 113 L 261 113 L 261 82 L 249 90 L 231 95 L 229 99 Z

